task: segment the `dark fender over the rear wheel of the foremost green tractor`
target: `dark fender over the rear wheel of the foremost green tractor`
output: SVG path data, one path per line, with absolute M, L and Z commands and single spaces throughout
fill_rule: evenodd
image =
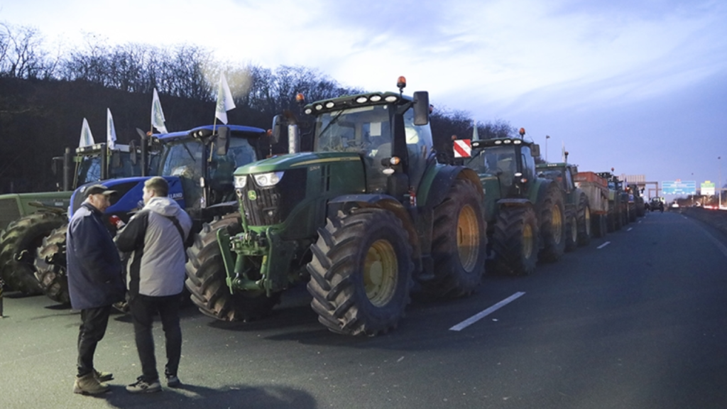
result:
M 438 166 L 430 167 L 425 173 L 424 178 L 422 178 L 422 183 L 419 185 L 419 193 L 417 194 L 419 205 L 423 205 L 425 209 L 432 209 L 437 204 L 440 204 L 446 197 L 455 179 L 470 180 L 477 188 L 481 202 L 484 202 L 485 191 L 480 183 L 480 178 L 474 170 L 464 166 L 439 164 Z

